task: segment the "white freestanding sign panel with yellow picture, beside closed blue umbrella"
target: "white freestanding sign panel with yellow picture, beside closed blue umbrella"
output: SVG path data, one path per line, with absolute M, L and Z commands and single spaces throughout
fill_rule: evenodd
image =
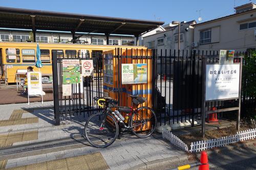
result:
M 31 71 L 27 73 L 28 95 L 42 95 L 41 72 Z

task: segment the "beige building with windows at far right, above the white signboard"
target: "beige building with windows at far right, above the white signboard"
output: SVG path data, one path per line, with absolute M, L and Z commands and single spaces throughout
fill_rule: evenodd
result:
M 256 47 L 256 5 L 234 8 L 236 13 L 198 23 L 194 29 L 195 49 L 245 52 Z

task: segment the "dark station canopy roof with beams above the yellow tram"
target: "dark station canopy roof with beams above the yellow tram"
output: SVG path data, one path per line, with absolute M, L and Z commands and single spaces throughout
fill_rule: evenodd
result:
M 0 7 L 0 27 L 103 34 L 140 35 L 162 21 Z

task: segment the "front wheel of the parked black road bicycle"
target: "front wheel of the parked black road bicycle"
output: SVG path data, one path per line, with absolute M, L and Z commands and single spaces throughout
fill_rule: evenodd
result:
M 110 127 L 111 125 L 109 125 L 109 126 L 107 125 L 107 124 L 109 124 L 108 121 L 106 121 L 104 129 L 100 130 L 99 127 L 100 127 L 100 124 L 102 123 L 102 120 L 103 120 L 102 117 L 104 117 L 104 114 L 102 114 L 102 113 L 93 114 L 87 120 L 86 125 L 84 125 L 84 133 L 85 133 L 86 139 L 95 148 L 109 147 L 109 145 L 111 145 L 116 140 L 117 135 L 118 135 L 118 131 L 119 131 L 116 119 L 108 113 L 107 113 L 106 118 L 109 119 L 109 120 L 112 120 L 114 122 L 114 124 L 112 124 L 112 125 L 115 126 L 112 129 L 113 134 L 112 134 L 112 136 L 110 136 L 111 135 L 110 134 L 110 131 L 111 131 L 110 129 L 112 127 Z M 97 123 L 99 123 L 99 125 L 95 126 L 94 129 L 91 130 L 90 129 L 91 128 L 90 123 L 92 123 L 92 124 L 96 123 L 95 120 L 93 120 L 93 118 L 96 118 L 96 119 L 99 118 L 99 120 L 97 121 Z M 98 131 L 97 131 L 97 128 L 98 128 Z M 93 134 L 93 132 L 99 133 L 99 134 Z M 106 136 L 103 136 L 104 134 Z M 113 137 L 113 138 L 107 143 L 106 140 L 108 140 L 109 137 Z

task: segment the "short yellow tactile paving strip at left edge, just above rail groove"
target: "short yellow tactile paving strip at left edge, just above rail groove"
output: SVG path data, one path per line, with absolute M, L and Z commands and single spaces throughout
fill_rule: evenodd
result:
M 0 135 L 0 148 L 11 147 L 13 143 L 38 139 L 38 131 L 26 131 Z

